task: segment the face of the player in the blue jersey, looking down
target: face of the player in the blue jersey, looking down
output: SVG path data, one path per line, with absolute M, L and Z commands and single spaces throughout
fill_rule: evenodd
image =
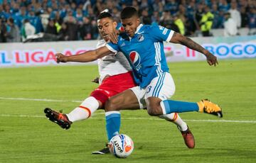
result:
M 129 37 L 133 37 L 134 33 L 137 30 L 137 27 L 139 26 L 139 18 L 137 16 L 132 16 L 132 18 L 125 18 L 122 19 L 122 26 L 124 26 L 124 30 L 129 35 Z

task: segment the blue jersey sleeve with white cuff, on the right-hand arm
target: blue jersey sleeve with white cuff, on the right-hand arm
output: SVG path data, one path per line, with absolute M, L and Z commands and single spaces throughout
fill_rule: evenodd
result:
M 174 30 L 164 28 L 163 26 L 151 26 L 151 36 L 158 41 L 170 42 L 174 35 Z

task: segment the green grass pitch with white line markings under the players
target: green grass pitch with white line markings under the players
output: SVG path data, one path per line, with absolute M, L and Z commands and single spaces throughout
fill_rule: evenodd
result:
M 127 159 L 92 155 L 107 142 L 103 111 L 63 130 L 43 109 L 68 113 L 78 106 L 74 101 L 97 87 L 90 82 L 96 65 L 2 68 L 0 162 L 256 162 L 256 60 L 220 60 L 218 67 L 178 62 L 169 68 L 176 82 L 173 99 L 208 98 L 223 108 L 223 119 L 180 114 L 195 136 L 195 149 L 187 149 L 174 124 L 146 111 L 122 111 L 120 133 L 132 137 L 134 152 Z

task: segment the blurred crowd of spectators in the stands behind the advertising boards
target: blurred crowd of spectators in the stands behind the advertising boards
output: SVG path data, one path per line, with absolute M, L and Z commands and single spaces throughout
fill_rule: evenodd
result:
M 120 22 L 125 6 L 137 8 L 144 24 L 188 36 L 210 36 L 213 28 L 225 28 L 227 36 L 256 28 L 256 0 L 0 0 L 0 43 L 36 33 L 48 33 L 52 40 L 96 40 L 97 15 L 109 9 Z

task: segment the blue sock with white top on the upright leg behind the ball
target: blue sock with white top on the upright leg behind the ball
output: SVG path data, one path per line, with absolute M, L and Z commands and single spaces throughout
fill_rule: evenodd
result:
M 121 125 L 121 116 L 119 111 L 108 111 L 105 113 L 106 117 L 106 129 L 107 129 L 107 138 L 110 142 L 111 138 L 114 135 L 119 133 Z

